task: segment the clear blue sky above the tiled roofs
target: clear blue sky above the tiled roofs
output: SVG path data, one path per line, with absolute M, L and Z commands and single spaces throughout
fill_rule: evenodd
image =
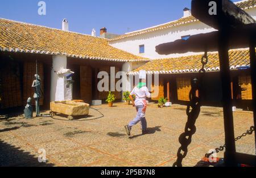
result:
M 236 2 L 237 0 L 234 0 Z M 101 27 L 122 34 L 181 18 L 189 0 L 44 0 L 46 15 L 38 15 L 39 0 L 9 0 L 0 3 L 0 18 L 61 28 L 67 18 L 69 30 L 90 34 Z

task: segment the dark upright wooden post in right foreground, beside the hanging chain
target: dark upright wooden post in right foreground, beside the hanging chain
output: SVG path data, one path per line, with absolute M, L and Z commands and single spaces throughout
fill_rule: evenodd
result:
M 218 43 L 218 55 L 220 58 L 220 74 L 222 82 L 222 103 L 224 113 L 224 128 L 225 128 L 225 145 L 226 151 L 224 154 L 226 166 L 236 166 L 236 143 L 234 142 L 234 121 L 232 111 L 231 98 L 231 79 L 229 69 L 229 52 L 228 52 L 228 31 L 223 28 L 220 31 Z

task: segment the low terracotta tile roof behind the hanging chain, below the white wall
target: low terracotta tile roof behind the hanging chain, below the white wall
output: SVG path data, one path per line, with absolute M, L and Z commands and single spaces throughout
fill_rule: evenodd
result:
M 196 73 L 201 67 L 201 58 L 203 54 L 195 56 L 185 56 L 177 58 L 166 58 L 152 60 L 145 65 L 131 71 L 129 75 L 139 74 L 139 70 L 146 70 L 147 74 L 175 74 L 175 73 Z M 205 66 L 207 71 L 219 71 L 220 63 L 218 53 L 208 53 L 208 64 Z M 240 67 L 250 66 L 249 49 L 230 50 L 229 51 L 230 69 L 239 69 Z

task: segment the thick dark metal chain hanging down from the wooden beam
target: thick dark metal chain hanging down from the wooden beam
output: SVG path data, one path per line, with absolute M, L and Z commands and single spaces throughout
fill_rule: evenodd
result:
M 189 92 L 189 104 L 187 106 L 187 116 L 188 121 L 185 125 L 185 132 L 182 133 L 179 137 L 179 142 L 181 144 L 179 150 L 177 151 L 177 160 L 174 163 L 173 167 L 182 167 L 182 161 L 187 156 L 188 146 L 192 141 L 192 135 L 196 133 L 196 120 L 201 111 L 201 100 L 199 96 L 196 96 L 196 91 L 199 91 L 200 94 L 200 82 L 201 78 L 205 74 L 205 65 L 208 63 L 207 50 L 205 50 L 204 56 L 201 58 L 202 68 L 199 70 L 200 80 L 197 78 L 192 80 L 191 91 Z

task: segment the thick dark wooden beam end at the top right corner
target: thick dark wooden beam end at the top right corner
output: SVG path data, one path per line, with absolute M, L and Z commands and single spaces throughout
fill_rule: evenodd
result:
M 216 4 L 210 2 L 216 2 Z M 216 9 L 217 14 L 213 13 L 213 9 Z M 191 12 L 195 18 L 215 29 L 220 29 L 224 25 L 240 28 L 256 23 L 253 17 L 229 0 L 192 0 Z

